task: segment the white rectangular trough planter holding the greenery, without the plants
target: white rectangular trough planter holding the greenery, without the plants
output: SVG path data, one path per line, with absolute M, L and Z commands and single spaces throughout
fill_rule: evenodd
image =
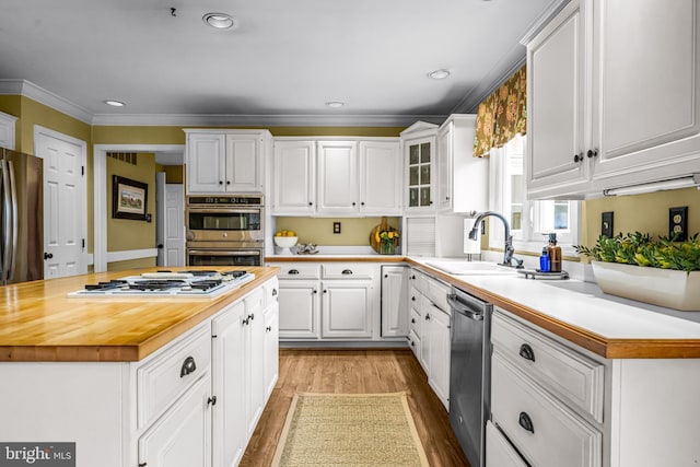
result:
M 602 261 L 591 261 L 591 266 L 605 293 L 682 312 L 700 312 L 700 271 L 688 273 Z

